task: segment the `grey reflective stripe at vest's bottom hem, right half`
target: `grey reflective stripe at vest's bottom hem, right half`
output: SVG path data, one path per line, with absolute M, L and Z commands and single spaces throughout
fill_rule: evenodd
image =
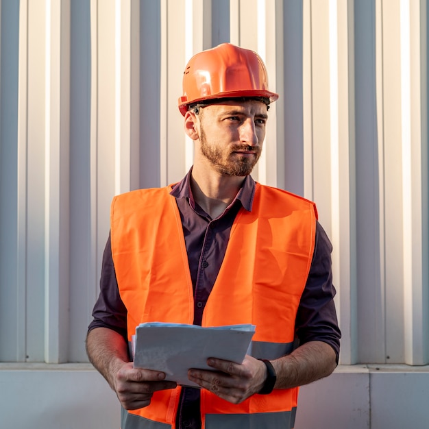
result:
M 292 429 L 296 408 L 281 413 L 208 414 L 206 429 Z

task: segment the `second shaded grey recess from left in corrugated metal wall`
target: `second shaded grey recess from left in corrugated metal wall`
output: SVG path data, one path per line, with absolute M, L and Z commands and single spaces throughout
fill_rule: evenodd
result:
M 87 360 L 84 337 L 98 295 L 90 180 L 90 4 L 71 1 L 69 356 Z

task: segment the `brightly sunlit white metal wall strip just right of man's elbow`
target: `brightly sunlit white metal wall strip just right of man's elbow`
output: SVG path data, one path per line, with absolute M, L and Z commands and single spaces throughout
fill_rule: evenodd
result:
M 336 23 L 334 21 L 336 19 Z M 343 332 L 341 362 L 351 365 L 357 356 L 356 287 L 356 173 L 354 138 L 354 8 L 352 1 L 330 1 L 331 120 L 332 161 L 332 271 L 340 327 Z M 336 50 L 336 54 L 334 53 Z M 332 91 L 332 88 L 336 90 Z M 336 132 L 333 128 L 336 127 Z

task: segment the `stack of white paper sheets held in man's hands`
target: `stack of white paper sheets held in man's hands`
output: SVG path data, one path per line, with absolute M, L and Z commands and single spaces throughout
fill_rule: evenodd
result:
M 249 324 L 201 328 L 180 323 L 141 323 L 132 345 L 134 367 L 163 371 L 166 380 L 199 387 L 188 380 L 188 369 L 212 370 L 207 365 L 208 358 L 242 363 L 255 328 Z

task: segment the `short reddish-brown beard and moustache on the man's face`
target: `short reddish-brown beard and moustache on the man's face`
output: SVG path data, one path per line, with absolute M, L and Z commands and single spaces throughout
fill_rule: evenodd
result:
M 210 145 L 202 127 L 199 141 L 201 154 L 223 175 L 249 175 L 258 162 L 261 153 L 260 146 L 233 145 L 228 147 L 227 151 L 227 149 L 221 149 L 219 145 Z M 254 151 L 255 154 L 253 156 L 239 156 L 234 154 L 236 151 Z

